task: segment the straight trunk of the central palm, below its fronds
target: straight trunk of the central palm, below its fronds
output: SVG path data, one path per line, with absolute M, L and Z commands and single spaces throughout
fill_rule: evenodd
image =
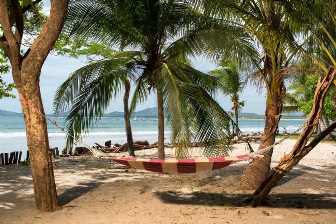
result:
M 157 94 L 157 118 L 158 118 L 158 139 L 157 139 L 157 157 L 164 159 L 164 114 L 163 114 L 163 96 L 161 86 L 158 81 L 156 84 Z

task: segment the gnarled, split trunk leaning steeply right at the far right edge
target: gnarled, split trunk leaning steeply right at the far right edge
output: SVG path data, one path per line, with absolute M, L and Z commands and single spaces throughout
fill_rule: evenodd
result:
M 309 145 L 306 146 L 321 116 L 325 96 L 335 77 L 336 67 L 331 67 L 325 78 L 322 81 L 318 81 L 314 95 L 313 108 L 306 120 L 305 128 L 302 130 L 292 151 L 280 160 L 279 164 L 272 169 L 267 178 L 263 180 L 253 195 L 249 198 L 252 199 L 251 206 L 254 207 L 264 203 L 266 196 L 269 194 L 274 185 L 287 172 L 289 172 L 300 161 L 300 159 L 308 154 L 308 152 L 311 151 L 328 133 L 336 128 L 336 123 L 331 124 L 313 141 L 311 141 Z

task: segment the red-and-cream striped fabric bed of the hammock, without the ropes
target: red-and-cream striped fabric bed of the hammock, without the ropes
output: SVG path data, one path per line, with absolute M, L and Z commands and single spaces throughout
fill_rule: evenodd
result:
M 108 159 L 125 166 L 130 166 L 137 169 L 144 169 L 151 172 L 196 173 L 201 171 L 220 169 L 235 162 L 248 159 L 257 159 L 260 157 L 262 157 L 262 155 L 237 155 L 207 159 L 141 159 L 128 157 L 109 157 Z

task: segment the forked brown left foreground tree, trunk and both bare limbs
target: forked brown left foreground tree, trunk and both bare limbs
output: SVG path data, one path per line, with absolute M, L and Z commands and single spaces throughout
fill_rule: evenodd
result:
M 39 87 L 41 68 L 62 30 L 68 1 L 50 1 L 49 18 L 24 56 L 21 56 L 20 48 L 25 25 L 23 14 L 26 11 L 24 11 L 25 8 L 21 9 L 18 1 L 11 2 L 11 7 L 8 7 L 7 1 L 0 1 L 0 21 L 4 31 L 0 38 L 0 45 L 10 59 L 13 79 L 21 100 L 36 207 L 41 211 L 55 211 L 61 206 L 58 203 L 53 164 L 49 151 L 47 123 L 45 118 L 29 106 L 26 101 L 44 114 Z M 10 16 L 9 8 L 11 9 Z M 12 18 L 12 15 L 15 17 Z M 16 24 L 15 33 L 12 30 L 14 24 Z

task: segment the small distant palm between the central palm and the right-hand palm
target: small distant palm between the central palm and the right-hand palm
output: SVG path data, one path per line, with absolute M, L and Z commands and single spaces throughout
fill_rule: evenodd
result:
M 239 135 L 239 120 L 238 112 L 244 106 L 244 101 L 239 102 L 239 94 L 243 92 L 244 75 L 240 72 L 239 67 L 233 61 L 221 61 L 219 66 L 221 68 L 210 72 L 211 75 L 220 80 L 220 90 L 226 95 L 230 96 L 233 107 L 230 111 L 235 113 L 235 135 Z

